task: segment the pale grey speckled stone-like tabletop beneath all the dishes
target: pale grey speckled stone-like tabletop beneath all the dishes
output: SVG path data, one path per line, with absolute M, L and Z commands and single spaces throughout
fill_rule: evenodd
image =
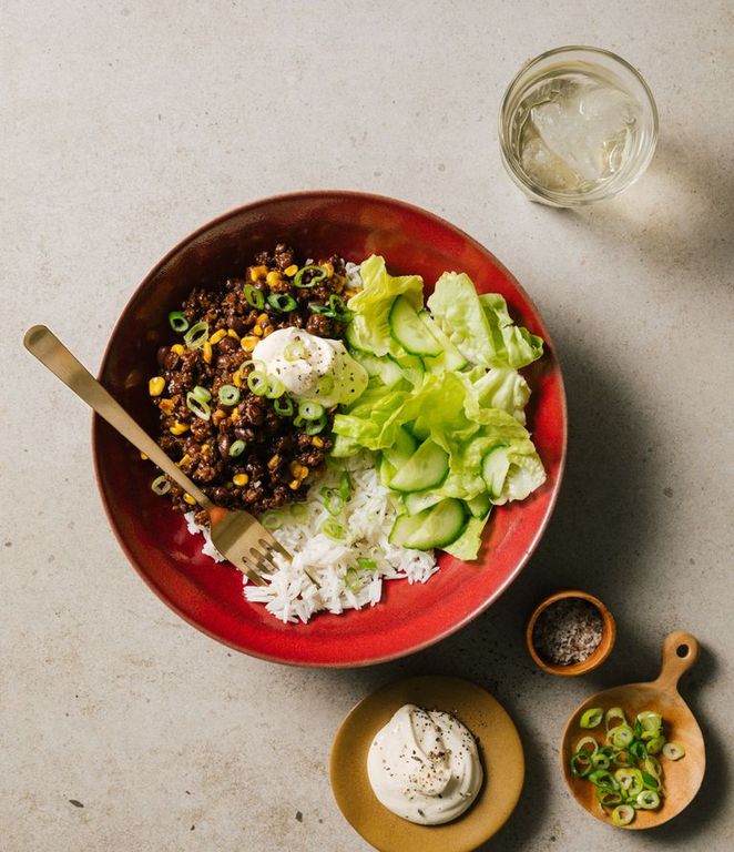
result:
M 524 794 L 487 850 L 734 846 L 733 24 L 731 2 L 3 4 L 3 850 L 361 852 L 330 795 L 332 737 L 414 672 L 476 680 L 521 731 Z M 620 197 L 555 212 L 504 175 L 497 110 L 527 58 L 584 42 L 641 69 L 659 153 Z M 20 347 L 47 322 L 95 367 L 179 239 L 310 187 L 395 195 L 490 247 L 539 305 L 569 395 L 564 488 L 521 578 L 438 647 L 357 671 L 248 659 L 150 594 L 106 526 L 86 410 Z M 608 602 L 620 637 L 598 673 L 561 682 L 522 629 L 569 585 Z M 559 736 L 590 691 L 654 677 L 675 628 L 703 643 L 683 692 L 708 773 L 684 816 L 613 834 L 570 801 Z

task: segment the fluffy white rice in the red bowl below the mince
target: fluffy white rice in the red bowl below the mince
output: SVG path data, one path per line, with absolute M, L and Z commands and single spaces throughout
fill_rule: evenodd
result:
M 426 582 L 438 570 L 432 551 L 410 550 L 388 541 L 396 510 L 379 481 L 373 457 L 364 454 L 344 463 L 310 487 L 303 504 L 303 519 L 295 520 L 286 511 L 283 526 L 273 531 L 294 555 L 293 561 L 276 554 L 278 570 L 265 577 L 266 586 L 248 584 L 243 575 L 247 600 L 264 604 L 282 621 L 306 622 L 320 610 L 339 613 L 375 606 L 383 597 L 383 580 Z M 322 530 L 332 516 L 320 491 L 336 486 L 344 468 L 349 470 L 353 495 L 334 518 L 344 530 L 344 537 L 335 540 Z M 193 513 L 186 515 L 186 520 L 190 532 L 204 535 L 202 552 L 222 561 L 208 529 L 194 524 Z M 373 560 L 376 568 L 358 569 L 358 558 Z

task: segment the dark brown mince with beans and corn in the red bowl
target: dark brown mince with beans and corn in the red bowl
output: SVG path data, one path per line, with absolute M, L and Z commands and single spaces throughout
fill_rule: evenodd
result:
M 172 327 L 205 323 L 204 339 L 186 343 L 181 333 L 162 346 L 150 392 L 161 415 L 161 447 L 214 504 L 258 514 L 305 498 L 332 449 L 334 412 L 327 412 L 320 434 L 297 428 L 297 403 L 292 415 L 278 414 L 278 400 L 249 390 L 251 353 L 258 341 L 289 326 L 343 338 L 345 301 L 351 293 L 339 257 L 304 266 L 282 243 L 256 255 L 243 272 L 220 288 L 188 295 L 180 312 L 186 322 L 172 318 Z M 218 397 L 225 385 L 239 392 L 238 399 L 227 398 L 231 404 Z M 278 407 L 287 409 L 286 397 Z M 233 446 L 239 449 L 243 443 L 244 449 L 233 455 Z M 179 511 L 194 509 L 196 519 L 206 523 L 206 513 L 175 483 L 167 494 Z

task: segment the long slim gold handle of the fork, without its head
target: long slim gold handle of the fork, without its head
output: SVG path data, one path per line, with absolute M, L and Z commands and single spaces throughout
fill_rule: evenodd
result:
M 159 445 L 144 432 L 116 399 L 102 387 L 92 374 L 81 364 L 61 341 L 44 325 L 34 325 L 23 337 L 26 348 L 48 367 L 51 373 L 70 387 L 77 396 L 103 417 L 110 426 L 144 453 L 154 465 L 167 474 L 174 483 L 187 491 L 196 503 L 207 511 L 214 504 L 192 480 L 181 473 Z

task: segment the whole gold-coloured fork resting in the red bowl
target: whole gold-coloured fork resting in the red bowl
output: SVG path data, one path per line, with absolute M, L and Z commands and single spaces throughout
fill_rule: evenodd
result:
M 48 367 L 64 385 L 81 397 L 100 417 L 144 453 L 208 513 L 214 547 L 253 582 L 264 586 L 263 574 L 276 568 L 273 550 L 286 559 L 290 554 L 276 541 L 248 511 L 228 511 L 215 506 L 174 462 L 159 447 L 125 409 L 102 387 L 86 368 L 44 325 L 34 325 L 23 337 L 26 348 Z

